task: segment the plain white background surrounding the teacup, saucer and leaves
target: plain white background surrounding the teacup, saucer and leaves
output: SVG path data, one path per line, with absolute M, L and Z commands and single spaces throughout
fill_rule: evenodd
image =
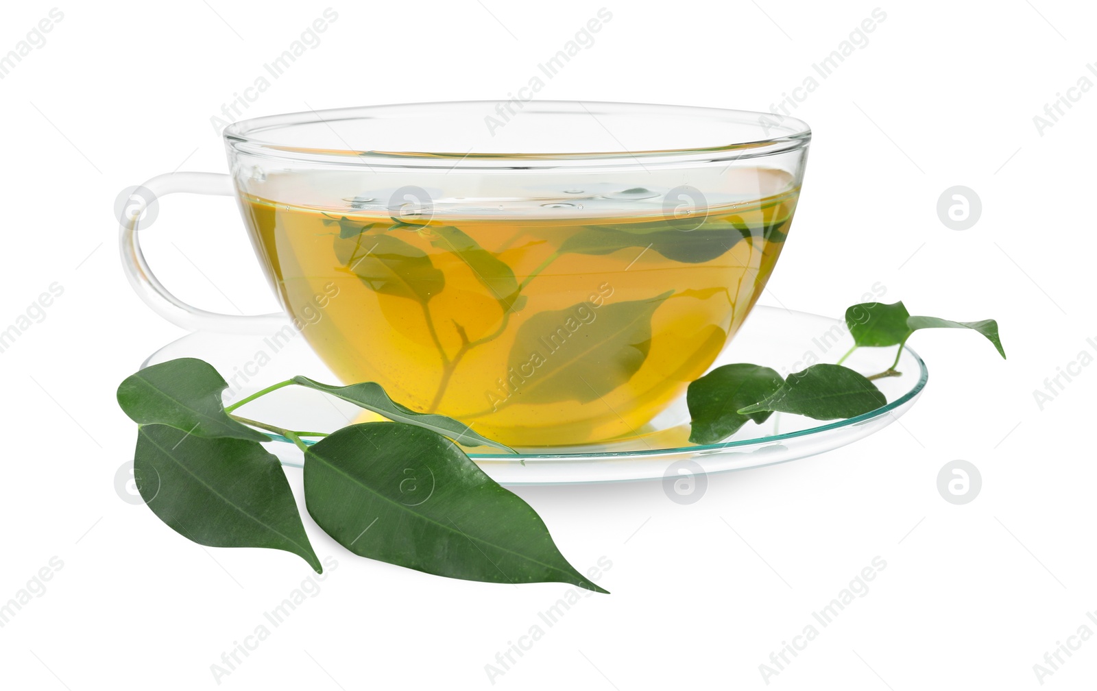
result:
M 246 116 L 306 102 L 505 99 L 603 7 L 331 2 L 338 20 L 321 43 Z M 53 7 L 8 3 L 0 54 Z M 211 116 L 329 2 L 57 7 L 64 19 L 45 45 L 0 80 L 0 328 L 52 283 L 64 287 L 0 353 L 0 601 L 50 557 L 64 566 L 0 628 L 0 669 L 7 688 L 212 688 L 211 665 L 310 570 L 289 553 L 200 547 L 116 492 L 135 428 L 114 388 L 183 332 L 126 284 L 112 203 L 161 172 L 224 171 Z M 604 7 L 612 20 L 540 98 L 769 110 L 878 5 Z M 875 556 L 886 568 L 868 594 L 770 687 L 1034 689 L 1045 652 L 1084 624 L 1097 632 L 1085 615 L 1097 609 L 1087 442 L 1097 367 L 1043 410 L 1032 394 L 1097 350 L 1086 342 L 1097 337 L 1097 242 L 1084 213 L 1097 93 L 1071 92 L 1077 102 L 1042 133 L 1033 123 L 1081 77 L 1097 81 L 1086 68 L 1097 12 L 1056 0 L 879 7 L 886 20 L 868 45 L 794 112 L 814 141 L 764 302 L 840 316 L 881 282 L 887 302 L 916 314 L 997 318 L 1009 360 L 973 333 L 919 332 L 930 384 L 902 424 L 711 477 L 690 506 L 659 483 L 519 489 L 573 564 L 612 562 L 601 579 L 612 594 L 581 600 L 495 687 L 765 688 L 759 665 Z M 983 206 L 963 231 L 937 215 L 957 184 Z M 227 200 L 173 196 L 148 238 L 150 262 L 183 298 L 274 307 Z M 965 506 L 936 487 L 957 458 L 983 478 Z M 299 490 L 299 472 L 289 475 Z M 304 520 L 338 567 L 224 688 L 490 688 L 485 665 L 568 590 L 360 559 Z M 1064 660 L 1043 686 L 1083 688 L 1097 676 L 1097 642 Z

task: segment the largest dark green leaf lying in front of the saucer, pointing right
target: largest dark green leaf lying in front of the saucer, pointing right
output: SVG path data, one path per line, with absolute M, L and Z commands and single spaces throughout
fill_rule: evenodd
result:
M 309 446 L 305 502 L 360 556 L 450 578 L 606 592 L 567 563 L 528 503 L 420 427 L 365 422 Z

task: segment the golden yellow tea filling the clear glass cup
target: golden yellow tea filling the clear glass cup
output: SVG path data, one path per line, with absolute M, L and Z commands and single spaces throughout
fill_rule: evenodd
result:
M 685 216 L 244 206 L 284 306 L 344 384 L 512 446 L 579 444 L 636 432 L 713 363 L 781 251 L 799 193 L 781 175 Z

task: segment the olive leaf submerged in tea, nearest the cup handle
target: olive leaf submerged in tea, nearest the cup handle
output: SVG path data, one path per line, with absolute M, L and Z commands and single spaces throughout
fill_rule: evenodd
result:
M 336 257 L 370 290 L 426 303 L 445 286 L 421 249 L 392 235 L 336 240 Z

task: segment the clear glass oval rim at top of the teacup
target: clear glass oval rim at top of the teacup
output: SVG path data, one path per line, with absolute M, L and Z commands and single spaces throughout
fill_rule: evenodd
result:
M 473 146 L 467 151 L 380 151 L 353 148 L 333 127 L 342 121 L 367 121 L 380 118 L 438 116 L 445 110 L 477 110 L 494 113 L 497 101 L 439 101 L 428 103 L 400 103 L 391 105 L 363 105 L 321 111 L 303 111 L 282 115 L 265 115 L 242 120 L 228 125 L 224 131 L 226 146 L 237 154 L 246 154 L 280 161 L 307 162 L 309 165 L 336 165 L 340 167 L 382 166 L 386 168 L 441 168 L 453 169 L 501 169 L 520 170 L 527 168 L 580 168 L 585 166 L 688 166 L 730 162 L 740 159 L 773 156 L 807 146 L 811 128 L 801 120 L 774 113 L 738 111 L 694 105 L 665 105 L 653 103 L 618 103 L 603 101 L 529 101 L 521 106 L 521 114 L 542 115 L 588 115 L 601 124 L 598 115 L 612 116 L 669 116 L 680 117 L 681 126 L 690 122 L 704 122 L 712 126 L 721 123 L 728 131 L 746 128 L 750 136 L 732 136 L 731 140 L 713 141 L 711 145 L 688 148 L 659 148 L 626 150 L 624 145 L 615 151 L 565 151 L 565 152 L 477 152 Z M 314 148 L 296 144 L 275 141 L 271 134 L 297 125 L 323 123 L 338 137 L 346 148 Z M 606 128 L 604 125 L 601 125 Z M 609 132 L 607 129 L 607 132 Z M 753 134 L 759 136 L 754 137 Z M 612 132 L 609 135 L 617 139 Z M 620 140 L 618 140 L 620 144 Z M 455 160 L 455 162 L 454 162 Z

